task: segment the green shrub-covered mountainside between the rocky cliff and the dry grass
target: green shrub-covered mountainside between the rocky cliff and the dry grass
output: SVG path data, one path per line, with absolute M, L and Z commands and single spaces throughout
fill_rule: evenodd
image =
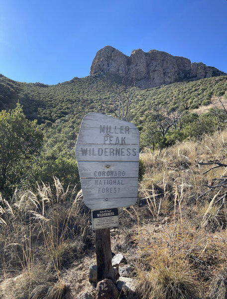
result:
M 44 133 L 39 157 L 30 165 L 30 180 L 21 175 L 21 181 L 17 185 L 12 183 L 13 187 L 21 187 L 25 181 L 24 188 L 34 188 L 36 180 L 51 183 L 53 175 L 64 186 L 71 182 L 79 187 L 74 148 L 81 121 L 92 111 L 114 115 L 113 99 L 118 101 L 119 97 L 124 101 L 131 97 L 127 119 L 141 131 L 141 148 L 163 149 L 176 141 L 200 139 L 204 133 L 225 129 L 223 109 L 201 116 L 192 109 L 209 104 L 213 97 L 225 97 L 226 76 L 144 90 L 122 85 L 117 79 L 93 76 L 49 86 L 15 82 L 1 75 L 0 108 L 12 109 L 19 102 L 26 117 L 37 119 Z M 168 128 L 174 118 L 176 122 Z M 5 194 L 9 196 L 10 192 Z

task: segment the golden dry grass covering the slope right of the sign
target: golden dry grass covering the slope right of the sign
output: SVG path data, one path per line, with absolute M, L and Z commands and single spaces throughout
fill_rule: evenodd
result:
M 144 212 L 137 211 L 140 227 L 131 236 L 139 249 L 134 256 L 138 298 L 226 298 L 227 186 L 207 185 L 225 178 L 227 169 L 203 174 L 212 165 L 199 164 L 226 163 L 226 149 L 223 132 L 141 155 L 146 173 L 140 201 L 147 200 L 151 219 L 145 224 Z

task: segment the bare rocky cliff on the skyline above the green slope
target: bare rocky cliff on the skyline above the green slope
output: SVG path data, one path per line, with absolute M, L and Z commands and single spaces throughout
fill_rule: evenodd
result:
M 99 50 L 91 66 L 90 75 L 105 73 L 121 78 L 134 78 L 136 86 L 141 88 L 225 75 L 202 62 L 191 64 L 187 58 L 172 56 L 166 52 L 143 52 L 137 49 L 129 57 L 111 46 Z

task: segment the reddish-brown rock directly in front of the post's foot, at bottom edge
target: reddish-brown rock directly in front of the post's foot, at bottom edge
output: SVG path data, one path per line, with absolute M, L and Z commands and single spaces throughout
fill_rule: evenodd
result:
M 96 299 L 118 299 L 118 291 L 110 279 L 98 282 L 96 287 Z

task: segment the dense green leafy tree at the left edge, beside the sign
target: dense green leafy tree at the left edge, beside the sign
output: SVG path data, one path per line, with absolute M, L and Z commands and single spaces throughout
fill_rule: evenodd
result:
M 36 121 L 27 120 L 19 104 L 0 112 L 0 192 L 4 196 L 11 196 L 15 187 L 29 180 L 29 169 L 42 142 Z

